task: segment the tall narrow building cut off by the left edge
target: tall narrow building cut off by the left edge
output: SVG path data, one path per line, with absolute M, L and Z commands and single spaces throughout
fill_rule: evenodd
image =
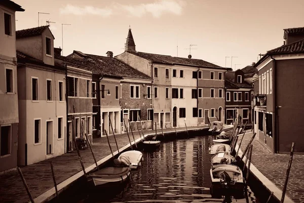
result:
M 18 88 L 15 12 L 12 1 L 0 1 L 0 173 L 17 166 Z

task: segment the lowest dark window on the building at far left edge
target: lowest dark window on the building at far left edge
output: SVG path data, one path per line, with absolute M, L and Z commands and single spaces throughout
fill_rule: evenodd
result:
M 2 125 L 0 132 L 0 156 L 11 154 L 12 148 L 12 126 Z

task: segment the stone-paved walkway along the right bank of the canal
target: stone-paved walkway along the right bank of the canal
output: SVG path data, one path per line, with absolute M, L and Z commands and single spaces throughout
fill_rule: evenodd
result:
M 253 132 L 246 133 L 241 144 L 241 150 L 244 152 L 246 146 L 253 136 Z M 242 136 L 238 139 L 238 144 Z M 283 190 L 286 170 L 290 154 L 274 154 L 264 144 L 254 138 L 251 162 L 255 167 L 279 189 Z M 296 144 L 295 144 L 296 147 Z M 304 155 L 294 154 L 286 195 L 294 202 L 304 202 Z

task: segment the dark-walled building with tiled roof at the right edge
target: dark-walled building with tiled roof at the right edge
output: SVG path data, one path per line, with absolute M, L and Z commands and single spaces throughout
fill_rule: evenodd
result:
M 256 64 L 254 131 L 274 153 L 304 152 L 304 27 L 284 29 L 284 45 Z

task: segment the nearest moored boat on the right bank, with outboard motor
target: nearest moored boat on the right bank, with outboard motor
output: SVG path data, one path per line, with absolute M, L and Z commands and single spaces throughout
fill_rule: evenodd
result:
M 237 198 L 244 196 L 244 178 L 240 167 L 231 164 L 213 165 L 210 176 L 212 197 L 221 194 L 232 194 Z

